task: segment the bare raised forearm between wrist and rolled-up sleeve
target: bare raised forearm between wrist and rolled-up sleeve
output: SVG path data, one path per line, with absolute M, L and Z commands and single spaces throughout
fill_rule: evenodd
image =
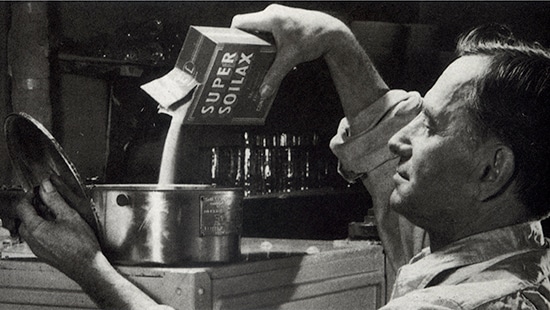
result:
M 355 116 L 389 89 L 349 29 L 334 35 L 333 40 L 325 60 L 353 130 Z

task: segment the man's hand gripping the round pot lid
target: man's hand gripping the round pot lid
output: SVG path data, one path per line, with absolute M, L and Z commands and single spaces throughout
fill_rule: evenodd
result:
M 85 276 L 82 269 L 101 254 L 95 233 L 67 205 L 50 180 L 42 182 L 39 195 L 54 219 L 46 220 L 38 215 L 31 194 L 17 205 L 22 222 L 19 234 L 32 251 L 50 265 L 75 280 Z

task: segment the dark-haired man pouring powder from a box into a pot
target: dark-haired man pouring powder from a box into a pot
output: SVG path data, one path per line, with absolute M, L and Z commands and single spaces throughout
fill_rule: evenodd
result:
M 351 31 L 329 15 L 271 5 L 236 16 L 233 26 L 276 40 L 262 96 L 272 96 L 297 64 L 324 57 L 346 115 L 331 147 L 342 174 L 360 178 L 373 196 L 394 265 L 429 234 L 430 247 L 400 269 L 385 308 L 549 308 L 550 252 L 540 226 L 550 202 L 548 52 L 515 42 L 506 29 L 472 32 L 421 98 L 390 91 Z M 107 262 L 55 187 L 46 180 L 40 191 L 55 221 L 28 202 L 18 206 L 33 251 L 100 306 L 153 307 Z

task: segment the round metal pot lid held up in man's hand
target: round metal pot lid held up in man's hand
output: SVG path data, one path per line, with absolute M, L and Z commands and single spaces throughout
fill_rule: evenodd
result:
M 69 205 L 97 231 L 91 205 L 79 203 L 90 201 L 80 175 L 52 134 L 40 122 L 23 112 L 8 115 L 4 130 L 12 166 L 23 190 L 32 191 L 40 186 L 42 180 L 52 174 L 58 175 L 78 197 L 78 201 L 65 197 Z

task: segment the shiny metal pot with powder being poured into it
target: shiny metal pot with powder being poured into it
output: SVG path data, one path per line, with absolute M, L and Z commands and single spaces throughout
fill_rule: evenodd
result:
M 243 192 L 210 185 L 90 188 L 105 255 L 120 264 L 177 265 L 240 258 Z

